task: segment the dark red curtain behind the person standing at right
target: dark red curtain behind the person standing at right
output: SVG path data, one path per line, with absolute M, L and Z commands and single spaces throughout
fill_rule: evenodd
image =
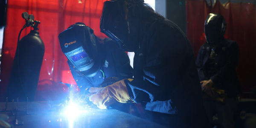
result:
M 212 9 L 205 0 L 187 0 L 187 36 L 194 49 L 195 56 L 205 39 L 204 20 L 208 12 L 220 13 L 227 22 L 224 37 L 234 40 L 239 45 L 239 64 L 237 74 L 242 91 L 249 91 L 255 86 L 256 78 L 256 8 L 251 3 L 220 3 L 217 1 Z

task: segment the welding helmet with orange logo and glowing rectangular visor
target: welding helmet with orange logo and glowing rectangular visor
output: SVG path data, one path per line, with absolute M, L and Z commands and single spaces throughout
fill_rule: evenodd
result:
M 86 77 L 93 77 L 99 72 L 102 60 L 93 29 L 81 24 L 70 26 L 58 38 L 62 52 L 76 70 Z

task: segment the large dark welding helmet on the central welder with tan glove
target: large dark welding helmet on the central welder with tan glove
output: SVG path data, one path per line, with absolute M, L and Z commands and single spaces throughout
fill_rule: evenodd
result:
M 144 2 L 144 0 L 111 0 L 105 1 L 103 6 L 100 30 L 126 52 L 139 50 L 141 27 L 138 19 L 140 15 L 134 14 L 139 10 L 136 5 L 138 2 Z

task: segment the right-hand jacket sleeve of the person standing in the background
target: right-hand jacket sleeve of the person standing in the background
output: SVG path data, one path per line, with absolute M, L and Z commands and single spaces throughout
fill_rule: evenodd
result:
M 221 67 L 218 72 L 213 75 L 210 79 L 212 79 L 213 83 L 221 83 L 224 81 L 227 76 L 231 76 L 233 70 L 236 69 L 239 61 L 239 48 L 237 43 L 232 43 L 230 48 L 227 51 L 226 63 L 223 67 Z

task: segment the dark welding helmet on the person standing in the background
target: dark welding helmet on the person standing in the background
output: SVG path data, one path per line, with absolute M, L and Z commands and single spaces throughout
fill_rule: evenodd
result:
M 224 36 L 227 23 L 218 13 L 210 13 L 204 22 L 204 33 L 208 44 L 216 45 Z

